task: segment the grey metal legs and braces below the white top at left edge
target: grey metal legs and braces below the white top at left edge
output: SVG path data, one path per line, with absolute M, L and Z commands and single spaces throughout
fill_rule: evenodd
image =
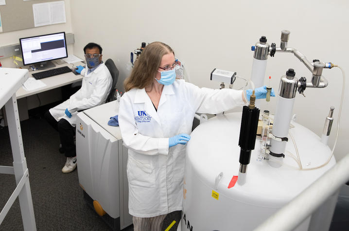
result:
M 17 187 L 0 213 L 0 224 L 18 196 L 24 230 L 36 231 L 33 200 L 30 191 L 27 161 L 24 156 L 16 93 L 7 101 L 5 109 L 14 161 L 13 167 L 0 166 L 0 173 L 14 174 Z

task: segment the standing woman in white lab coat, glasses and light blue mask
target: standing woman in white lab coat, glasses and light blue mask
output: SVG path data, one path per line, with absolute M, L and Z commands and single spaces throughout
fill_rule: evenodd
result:
M 166 214 L 182 210 L 185 144 L 195 112 L 217 114 L 247 103 L 242 90 L 200 89 L 175 80 L 175 65 L 173 50 L 153 42 L 124 82 L 119 124 L 128 148 L 128 205 L 135 231 L 161 230 Z

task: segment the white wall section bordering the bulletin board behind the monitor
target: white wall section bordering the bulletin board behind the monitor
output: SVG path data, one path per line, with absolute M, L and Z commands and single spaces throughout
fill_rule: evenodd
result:
M 35 1 L 33 1 L 33 4 Z M 71 30 L 71 17 L 70 17 L 70 0 L 65 0 L 65 9 L 66 9 L 66 23 L 54 24 L 49 26 L 40 26 L 25 30 L 12 31 L 6 33 L 0 33 L 0 46 L 7 46 L 19 43 L 19 38 L 29 37 L 29 36 L 39 36 L 56 32 L 66 32 L 72 33 Z M 16 17 L 16 13 L 14 12 L 14 17 Z M 68 45 L 68 53 L 73 53 L 72 51 L 73 45 Z M 20 55 L 18 55 L 20 56 Z M 7 68 L 16 68 L 16 64 L 13 63 L 13 59 L 10 58 L 2 58 L 0 59 L 2 67 Z M 20 66 L 23 63 L 19 63 Z

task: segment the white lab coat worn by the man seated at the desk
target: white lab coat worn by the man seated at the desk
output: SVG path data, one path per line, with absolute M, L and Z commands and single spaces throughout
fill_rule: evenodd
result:
M 78 110 L 105 103 L 113 81 L 105 64 L 100 64 L 89 74 L 87 74 L 87 69 L 85 68 L 81 71 L 81 75 L 84 76 L 81 89 L 72 94 L 68 100 L 50 109 L 50 113 L 56 121 L 64 118 L 72 126 L 75 126 Z M 71 113 L 71 118 L 65 114 L 66 108 Z

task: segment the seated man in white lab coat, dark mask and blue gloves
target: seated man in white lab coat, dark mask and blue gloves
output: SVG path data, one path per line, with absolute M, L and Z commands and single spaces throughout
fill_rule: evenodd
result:
M 96 43 L 88 43 L 84 53 L 87 68 L 78 66 L 76 70 L 84 76 L 81 89 L 44 115 L 59 132 L 62 144 L 60 150 L 67 157 L 62 168 L 63 173 L 74 171 L 77 164 L 74 143 L 76 114 L 78 111 L 104 104 L 112 86 L 112 77 L 102 61 L 102 47 Z

